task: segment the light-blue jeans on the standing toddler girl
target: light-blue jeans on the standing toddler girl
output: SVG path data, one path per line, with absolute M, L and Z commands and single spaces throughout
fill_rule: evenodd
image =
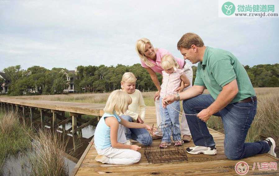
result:
M 165 128 L 162 129 L 162 141 L 171 142 L 171 133 L 173 140 L 181 140 L 181 132 L 179 127 L 179 111 L 179 101 L 174 101 L 172 104 L 167 105 L 166 108 L 163 108 L 162 98 L 160 97 L 160 115 L 162 119 L 162 127 L 164 127 L 163 125 L 165 125 Z

